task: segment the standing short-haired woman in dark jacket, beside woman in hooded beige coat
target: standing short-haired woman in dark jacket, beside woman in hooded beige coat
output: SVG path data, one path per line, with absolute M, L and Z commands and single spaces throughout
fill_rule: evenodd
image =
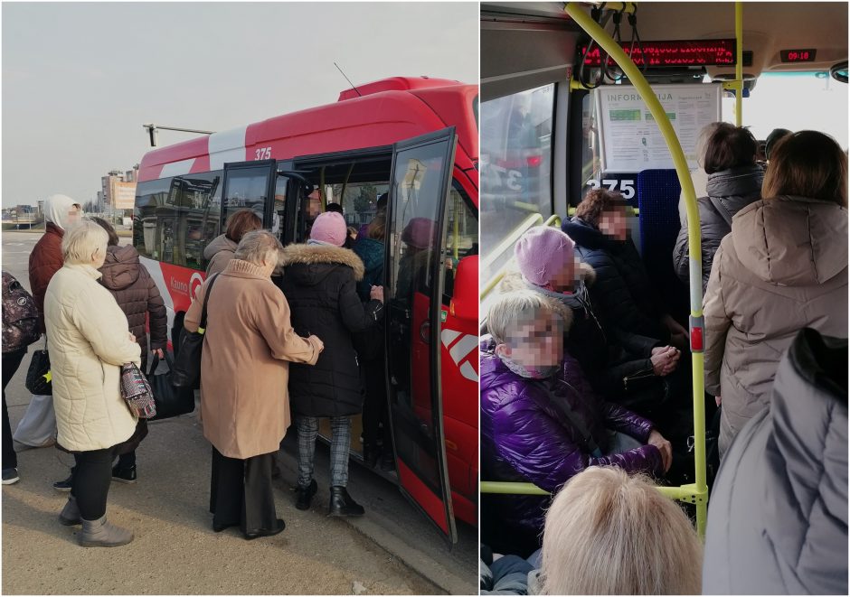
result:
M 756 163 L 758 149 L 748 129 L 725 122 L 717 126 L 708 139 L 704 159 L 708 195 L 696 200 L 700 213 L 703 292 L 712 273 L 714 253 L 723 237 L 732 232 L 732 217 L 761 199 L 764 171 Z M 687 220 L 682 219 L 673 248 L 673 266 L 685 284 L 690 279 L 688 261 Z

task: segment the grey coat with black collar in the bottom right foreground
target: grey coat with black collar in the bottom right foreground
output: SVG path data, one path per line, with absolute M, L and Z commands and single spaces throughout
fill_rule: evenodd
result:
M 708 507 L 703 594 L 847 594 L 847 340 L 800 331 Z

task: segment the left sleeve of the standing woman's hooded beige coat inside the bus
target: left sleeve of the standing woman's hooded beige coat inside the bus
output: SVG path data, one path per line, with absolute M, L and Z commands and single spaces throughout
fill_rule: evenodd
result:
M 732 325 L 732 319 L 726 312 L 724 303 L 722 269 L 723 244 L 714 254 L 712 275 L 708 280 L 703 298 L 705 317 L 705 391 L 712 396 L 720 395 L 720 369 L 723 363 L 723 350 L 726 346 L 726 332 Z

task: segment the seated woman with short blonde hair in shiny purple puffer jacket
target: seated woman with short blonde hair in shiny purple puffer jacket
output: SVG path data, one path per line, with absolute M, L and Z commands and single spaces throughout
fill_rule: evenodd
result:
M 563 350 L 571 313 L 531 291 L 500 297 L 481 341 L 482 479 L 531 482 L 551 493 L 589 466 L 619 466 L 662 477 L 670 443 L 652 422 L 590 388 Z M 527 555 L 540 546 L 540 496 L 494 495 L 482 518 L 495 551 Z

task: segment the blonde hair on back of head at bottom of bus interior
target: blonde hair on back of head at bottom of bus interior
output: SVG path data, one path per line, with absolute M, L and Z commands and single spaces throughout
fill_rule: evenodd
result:
M 703 546 L 690 520 L 643 475 L 591 466 L 546 514 L 544 594 L 699 594 Z

